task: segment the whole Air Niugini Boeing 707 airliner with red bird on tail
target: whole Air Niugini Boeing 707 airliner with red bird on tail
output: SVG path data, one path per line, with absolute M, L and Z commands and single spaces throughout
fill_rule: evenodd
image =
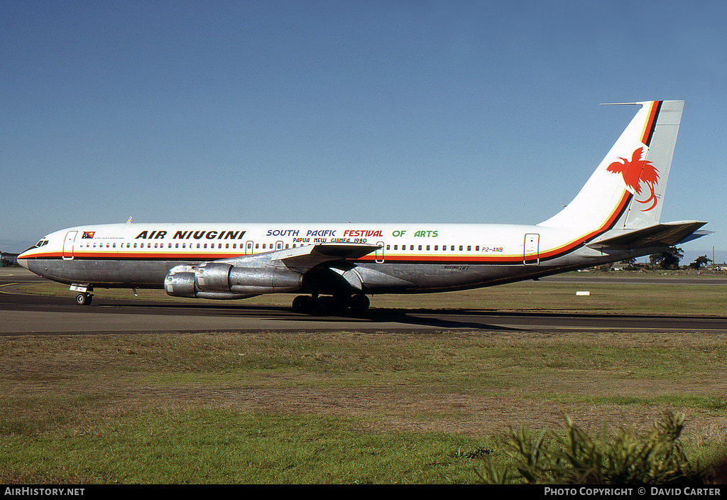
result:
M 367 295 L 475 289 L 665 251 L 706 222 L 659 222 L 684 102 L 640 108 L 576 197 L 536 225 L 100 224 L 44 236 L 17 262 L 71 286 L 172 297 L 300 294 L 300 313 L 360 313 Z

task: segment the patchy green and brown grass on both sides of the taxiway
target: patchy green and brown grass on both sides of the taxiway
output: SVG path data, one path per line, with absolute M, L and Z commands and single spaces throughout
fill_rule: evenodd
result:
M 576 288 L 374 305 L 721 315 L 727 292 Z M 710 333 L 593 331 L 3 337 L 0 483 L 473 483 L 510 425 L 569 414 L 644 430 L 664 410 L 686 414 L 689 453 L 709 459 L 727 438 L 725 347 Z

